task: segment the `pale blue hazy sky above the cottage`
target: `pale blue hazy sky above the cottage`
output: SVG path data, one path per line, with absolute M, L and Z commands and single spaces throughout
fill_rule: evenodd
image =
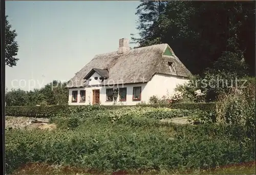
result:
M 135 12 L 139 4 L 6 1 L 6 15 L 19 45 L 17 65 L 6 66 L 8 91 L 30 91 L 53 80 L 68 81 L 96 54 L 116 51 L 120 38 L 131 39 L 131 33 L 138 33 Z

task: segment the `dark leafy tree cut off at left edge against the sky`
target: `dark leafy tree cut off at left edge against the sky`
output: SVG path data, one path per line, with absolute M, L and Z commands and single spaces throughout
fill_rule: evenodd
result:
M 11 25 L 5 16 L 5 63 L 9 67 L 13 67 L 19 60 L 16 58 L 18 52 L 18 43 L 15 40 L 17 33 L 15 30 L 11 30 Z

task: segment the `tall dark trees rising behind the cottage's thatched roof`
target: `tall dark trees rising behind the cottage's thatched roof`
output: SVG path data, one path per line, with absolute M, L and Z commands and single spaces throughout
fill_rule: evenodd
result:
M 172 1 L 160 16 L 149 8 L 153 3 L 137 8 L 140 38 L 132 39 L 139 47 L 168 43 L 194 74 L 212 68 L 224 52 L 242 53 L 254 73 L 255 2 Z

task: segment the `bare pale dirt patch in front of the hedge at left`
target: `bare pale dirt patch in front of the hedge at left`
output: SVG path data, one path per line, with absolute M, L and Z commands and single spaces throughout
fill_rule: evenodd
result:
M 35 121 L 41 121 L 36 123 Z M 20 128 L 20 129 L 49 129 L 52 130 L 56 127 L 54 123 L 49 123 L 47 118 L 33 118 L 33 117 L 12 117 L 6 116 L 5 128 Z

